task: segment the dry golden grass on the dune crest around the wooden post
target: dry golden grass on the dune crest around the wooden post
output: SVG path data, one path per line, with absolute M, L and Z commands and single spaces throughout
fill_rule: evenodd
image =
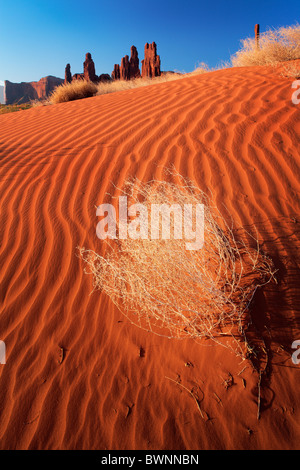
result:
M 300 25 L 261 33 L 259 47 L 254 38 L 243 39 L 242 45 L 231 58 L 234 67 L 276 65 L 279 62 L 300 59 Z

